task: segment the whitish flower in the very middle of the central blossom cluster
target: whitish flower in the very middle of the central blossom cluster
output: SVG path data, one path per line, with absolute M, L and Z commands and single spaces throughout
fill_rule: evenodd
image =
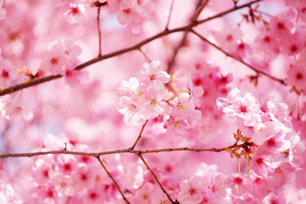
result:
M 155 114 L 158 115 L 168 115 L 170 112 L 170 106 L 163 101 L 168 90 L 161 84 L 155 84 L 148 88 L 145 98 L 146 102 L 143 107 L 143 115 L 145 119 L 150 119 L 154 117 Z

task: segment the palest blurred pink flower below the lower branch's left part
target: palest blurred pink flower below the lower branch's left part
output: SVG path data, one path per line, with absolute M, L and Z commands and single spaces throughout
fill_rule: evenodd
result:
M 74 195 L 73 180 L 70 176 L 64 175 L 61 172 L 56 172 L 53 174 L 53 179 L 50 183 L 55 186 L 55 190 L 60 198 L 65 195 Z

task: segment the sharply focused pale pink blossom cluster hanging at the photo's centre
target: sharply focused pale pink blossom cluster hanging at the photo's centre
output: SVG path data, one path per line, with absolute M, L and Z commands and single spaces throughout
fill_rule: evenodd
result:
M 133 77 L 122 81 L 118 88 L 119 93 L 126 95 L 120 98 L 119 112 L 128 122 L 156 117 L 164 122 L 169 134 L 180 135 L 181 130 L 189 129 L 200 119 L 201 111 L 195 109 L 195 103 L 203 89 L 190 82 L 186 91 L 177 94 L 166 88 L 169 81 L 170 75 L 160 70 L 159 61 L 143 63 L 139 81 Z

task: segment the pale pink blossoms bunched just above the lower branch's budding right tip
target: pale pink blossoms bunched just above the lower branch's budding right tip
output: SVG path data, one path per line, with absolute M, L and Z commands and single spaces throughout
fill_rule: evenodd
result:
M 236 118 L 242 133 L 257 145 L 270 136 L 284 138 L 292 130 L 287 105 L 276 103 L 272 98 L 259 96 L 257 99 L 251 93 L 242 95 L 235 88 L 226 98 L 218 98 L 217 106 L 227 117 Z

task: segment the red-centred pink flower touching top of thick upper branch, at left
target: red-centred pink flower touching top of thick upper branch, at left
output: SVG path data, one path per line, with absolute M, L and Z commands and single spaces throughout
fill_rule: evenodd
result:
M 43 50 L 41 53 L 41 68 L 51 74 L 62 72 L 63 66 L 67 63 L 67 57 L 61 43 L 53 45 L 51 50 Z

